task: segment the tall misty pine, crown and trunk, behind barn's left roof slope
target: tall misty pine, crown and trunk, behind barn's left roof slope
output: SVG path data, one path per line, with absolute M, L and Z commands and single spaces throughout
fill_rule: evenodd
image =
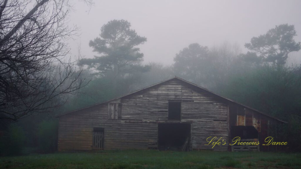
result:
M 131 29 L 128 21 L 111 20 L 101 27 L 100 37 L 89 42 L 89 46 L 100 56 L 82 58 L 77 64 L 95 71 L 93 75 L 98 80 L 103 78 L 104 81 L 112 82 L 112 97 L 125 94 L 134 88 L 141 73 L 150 69 L 150 66 L 141 64 L 143 53 L 138 48 L 146 41 L 147 38 Z

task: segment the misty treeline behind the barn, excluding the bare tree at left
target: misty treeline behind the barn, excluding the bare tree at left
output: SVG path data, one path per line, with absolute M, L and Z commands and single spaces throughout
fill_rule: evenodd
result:
M 248 49 L 245 54 L 237 45 L 228 43 L 212 48 L 192 43 L 179 49 L 172 65 L 143 65 L 144 55 L 138 46 L 147 38 L 131 29 L 128 21 L 112 20 L 101 28 L 100 37 L 89 43 L 98 56 L 79 57 L 73 65 L 82 70 L 80 74 L 74 74 L 77 81 L 91 81 L 67 95 L 66 103 L 53 113 L 29 116 L 17 124 L 8 122 L 6 131 L 10 134 L 19 132 L 15 135 L 22 137 L 27 146 L 39 145 L 36 151 L 52 152 L 56 150 L 54 136 L 57 136 L 54 115 L 101 103 L 176 75 L 287 121 L 278 135 L 290 144 L 291 150 L 300 151 L 301 67 L 299 63 L 293 66 L 286 63 L 291 52 L 300 50 L 300 42 L 294 41 L 295 36 L 294 26 L 283 24 L 253 37 L 245 44 Z M 49 142 L 43 140 L 47 138 Z M 9 139 L 22 140 L 14 139 L 14 136 Z M 20 146 L 15 147 L 20 150 Z

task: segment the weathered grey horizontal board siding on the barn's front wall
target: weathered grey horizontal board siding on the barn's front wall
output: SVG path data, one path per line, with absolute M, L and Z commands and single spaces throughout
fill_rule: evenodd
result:
M 181 101 L 181 121 L 168 120 L 169 100 Z M 59 151 L 91 150 L 93 128 L 104 128 L 104 149 L 147 149 L 156 143 L 158 123 L 191 123 L 192 148 L 211 149 L 207 137 L 228 138 L 228 105 L 179 79 L 122 97 L 121 119 L 108 119 L 108 103 L 60 116 Z M 226 151 L 227 146 L 214 150 Z

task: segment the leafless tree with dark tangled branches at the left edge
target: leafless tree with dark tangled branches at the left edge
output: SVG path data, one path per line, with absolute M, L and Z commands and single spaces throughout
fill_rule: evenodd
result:
M 50 112 L 86 84 L 63 61 L 77 31 L 69 10 L 67 0 L 0 1 L 0 119 Z

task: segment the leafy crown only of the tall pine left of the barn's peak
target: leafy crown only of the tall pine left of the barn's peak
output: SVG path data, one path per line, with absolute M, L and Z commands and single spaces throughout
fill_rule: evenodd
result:
M 93 51 L 101 54 L 93 59 L 79 60 L 79 65 L 87 65 L 101 74 L 109 74 L 114 78 L 135 72 L 144 72 L 148 66 L 141 66 L 143 53 L 138 45 L 147 41 L 137 35 L 131 24 L 126 20 L 111 20 L 101 27 L 100 37 L 89 42 Z

